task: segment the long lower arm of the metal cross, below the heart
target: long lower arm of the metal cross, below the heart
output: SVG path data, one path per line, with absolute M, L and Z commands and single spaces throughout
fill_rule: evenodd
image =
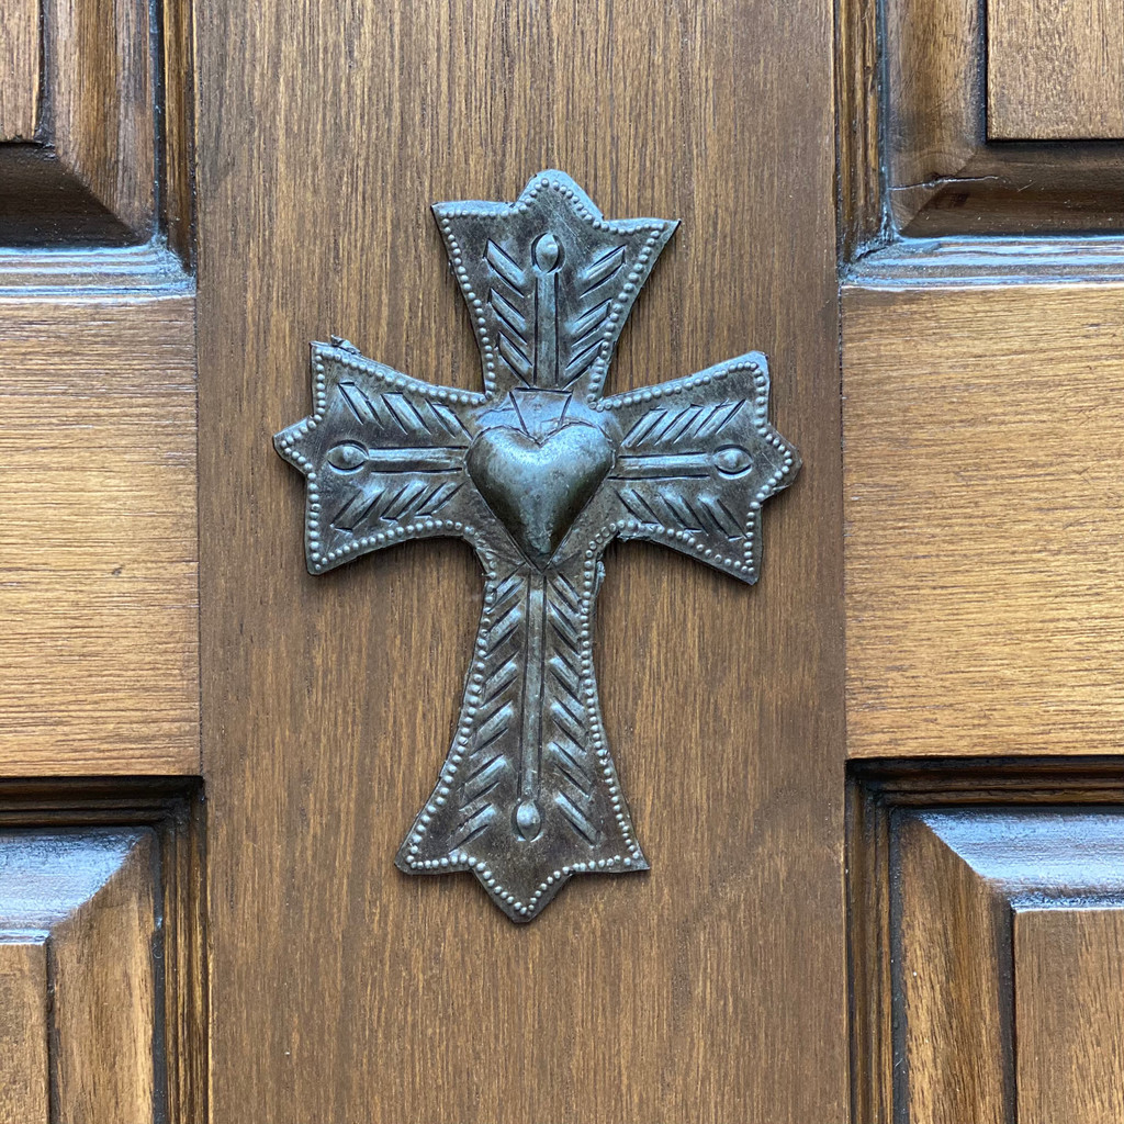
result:
M 411 873 L 472 870 L 518 919 L 572 873 L 647 869 L 605 745 L 587 572 L 489 584 L 453 749 L 398 853 Z

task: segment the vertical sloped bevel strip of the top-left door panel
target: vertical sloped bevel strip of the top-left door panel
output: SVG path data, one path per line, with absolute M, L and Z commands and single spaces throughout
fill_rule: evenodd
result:
M 155 218 L 152 11 L 146 0 L 43 0 L 51 142 L 140 241 Z

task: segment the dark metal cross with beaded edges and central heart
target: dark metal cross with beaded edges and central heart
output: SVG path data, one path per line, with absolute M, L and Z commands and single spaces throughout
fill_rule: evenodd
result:
M 484 392 L 312 344 L 314 414 L 274 438 L 307 480 L 314 574 L 407 538 L 468 540 L 483 615 L 453 745 L 398 852 L 469 870 L 513 921 L 571 876 L 647 870 L 601 722 L 593 602 L 614 538 L 753 582 L 760 508 L 799 468 L 751 352 L 601 397 L 625 319 L 677 223 L 607 220 L 561 172 L 514 203 L 434 214 Z

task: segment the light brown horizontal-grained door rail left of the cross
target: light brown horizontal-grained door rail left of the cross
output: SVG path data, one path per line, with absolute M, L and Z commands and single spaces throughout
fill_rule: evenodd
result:
M 0 324 L 0 769 L 196 772 L 193 299 Z

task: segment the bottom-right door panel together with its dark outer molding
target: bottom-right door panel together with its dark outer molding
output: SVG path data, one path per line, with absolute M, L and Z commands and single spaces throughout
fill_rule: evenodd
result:
M 853 1117 L 1118 1121 L 1118 763 L 854 772 Z

